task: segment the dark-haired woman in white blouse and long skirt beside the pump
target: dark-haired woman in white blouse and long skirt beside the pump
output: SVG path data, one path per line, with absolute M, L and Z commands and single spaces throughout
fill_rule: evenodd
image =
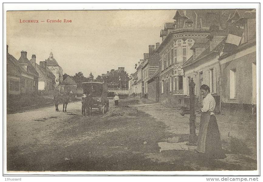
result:
M 202 85 L 200 90 L 204 99 L 196 150 L 199 153 L 203 153 L 203 157 L 223 159 L 226 156 L 222 151 L 217 119 L 213 113 L 216 102 L 210 94 L 209 86 Z

